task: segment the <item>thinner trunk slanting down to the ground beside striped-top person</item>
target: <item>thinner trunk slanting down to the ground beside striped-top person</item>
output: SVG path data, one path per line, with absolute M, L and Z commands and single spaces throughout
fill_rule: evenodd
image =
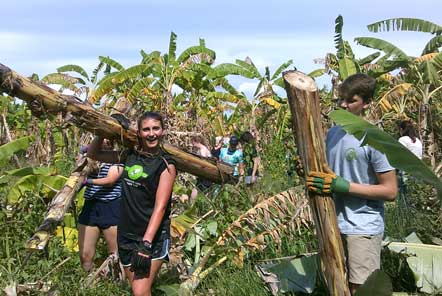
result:
M 52 199 L 40 227 L 26 242 L 26 249 L 43 250 L 46 247 L 58 224 L 63 221 L 66 211 L 70 208 L 84 178 L 87 177 L 90 171 L 91 165 L 88 165 L 87 158 L 83 157 L 79 160 L 79 165 L 69 176 L 66 183 Z

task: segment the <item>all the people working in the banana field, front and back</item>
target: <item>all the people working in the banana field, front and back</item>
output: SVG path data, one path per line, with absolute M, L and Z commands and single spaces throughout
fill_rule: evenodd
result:
M 339 88 L 338 107 L 363 116 L 370 108 L 376 81 L 365 74 L 348 77 Z M 85 205 L 79 219 L 79 245 L 83 268 L 93 267 L 95 245 L 103 232 L 109 252 L 117 252 L 134 295 L 151 295 L 152 283 L 170 248 L 171 195 L 176 167 L 173 158 L 160 148 L 163 118 L 143 113 L 137 121 L 136 149 L 112 150 L 101 137 L 89 145 L 87 156 L 98 160 L 99 172 L 85 183 Z M 401 123 L 399 141 L 417 157 L 422 143 L 409 121 Z M 227 147 L 221 139 L 209 149 L 201 137 L 193 137 L 195 152 L 217 157 L 234 166 L 234 175 L 247 184 L 257 181 L 259 156 L 250 132 L 231 136 Z M 239 146 L 241 144 L 241 149 Z M 346 252 L 351 293 L 380 268 L 384 233 L 384 202 L 394 201 L 398 191 L 396 169 L 387 157 L 334 126 L 326 138 L 326 172 L 308 172 L 309 191 L 332 194 Z M 211 186 L 197 179 L 197 191 Z

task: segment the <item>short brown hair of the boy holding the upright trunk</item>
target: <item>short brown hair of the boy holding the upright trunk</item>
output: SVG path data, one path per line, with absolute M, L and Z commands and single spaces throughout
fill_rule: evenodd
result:
M 367 74 L 357 73 L 348 76 L 339 86 L 339 96 L 343 99 L 353 98 L 358 95 L 364 103 L 373 99 L 376 89 L 376 79 Z

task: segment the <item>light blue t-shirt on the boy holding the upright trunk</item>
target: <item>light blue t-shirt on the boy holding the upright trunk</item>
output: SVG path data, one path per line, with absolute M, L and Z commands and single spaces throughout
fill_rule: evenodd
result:
M 385 154 L 335 126 L 327 134 L 327 162 L 339 176 L 353 183 L 378 184 L 376 173 L 394 170 Z M 384 201 L 350 194 L 334 195 L 338 226 L 343 234 L 384 232 Z

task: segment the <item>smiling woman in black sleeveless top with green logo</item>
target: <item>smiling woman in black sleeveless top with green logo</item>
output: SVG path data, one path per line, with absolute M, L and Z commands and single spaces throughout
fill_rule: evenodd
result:
M 88 157 L 124 163 L 118 253 L 136 296 L 150 296 L 161 265 L 169 258 L 170 212 L 175 160 L 161 149 L 163 117 L 145 112 L 138 118 L 137 149 L 103 151 L 92 141 Z

